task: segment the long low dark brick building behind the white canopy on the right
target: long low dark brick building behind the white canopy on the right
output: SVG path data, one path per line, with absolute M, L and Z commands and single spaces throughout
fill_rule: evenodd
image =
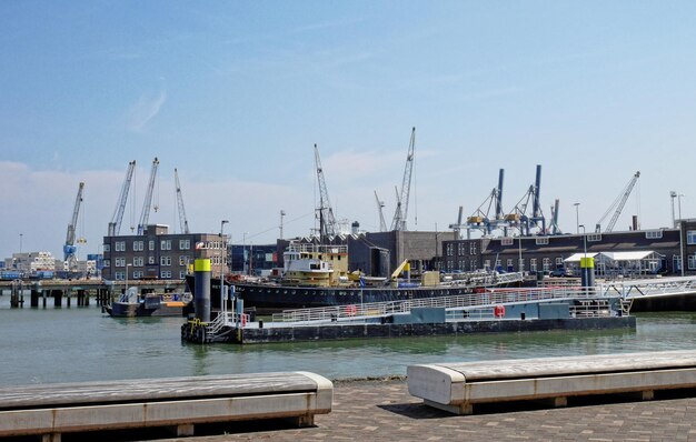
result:
M 446 240 L 441 265 L 447 272 L 551 272 L 573 270 L 578 257 L 587 254 L 595 257 L 599 275 L 676 275 L 682 274 L 683 260 L 684 273 L 696 274 L 696 220 L 678 220 L 677 224 L 675 229 Z

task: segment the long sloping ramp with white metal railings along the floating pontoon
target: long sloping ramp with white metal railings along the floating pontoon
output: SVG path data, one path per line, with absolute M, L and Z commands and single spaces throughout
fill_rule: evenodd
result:
M 461 310 L 490 310 L 490 312 L 493 312 L 496 305 L 560 300 L 606 300 L 616 298 L 619 298 L 616 293 L 600 294 L 597 293 L 594 288 L 489 289 L 480 293 L 460 294 L 456 297 L 286 310 L 281 313 L 275 313 L 272 315 L 272 322 L 357 321 L 374 317 L 387 317 L 395 313 L 408 313 L 415 308 L 444 308 L 448 313 Z

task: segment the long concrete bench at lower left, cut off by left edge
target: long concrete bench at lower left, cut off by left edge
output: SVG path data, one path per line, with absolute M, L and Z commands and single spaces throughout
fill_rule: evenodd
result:
M 331 381 L 314 373 L 34 384 L 0 388 L 0 436 L 171 426 L 192 435 L 198 423 L 290 418 L 314 425 L 329 413 Z

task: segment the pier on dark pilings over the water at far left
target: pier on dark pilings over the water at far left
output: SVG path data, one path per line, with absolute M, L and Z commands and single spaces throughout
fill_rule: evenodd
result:
M 128 281 L 128 287 L 139 293 L 171 293 L 186 288 L 183 281 Z M 9 294 L 10 307 L 70 308 L 89 307 L 90 299 L 97 305 L 107 305 L 126 290 L 125 281 L 91 280 L 13 280 L 0 282 L 0 294 Z

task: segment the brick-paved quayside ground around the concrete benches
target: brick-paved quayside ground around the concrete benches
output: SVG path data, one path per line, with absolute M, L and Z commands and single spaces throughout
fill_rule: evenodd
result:
M 401 380 L 338 382 L 331 413 L 317 415 L 314 428 L 257 422 L 207 428 L 218 435 L 180 441 L 696 441 L 696 398 L 688 396 L 694 394 L 657 395 L 647 402 L 584 399 L 564 409 L 498 404 L 458 416 L 422 405 Z

